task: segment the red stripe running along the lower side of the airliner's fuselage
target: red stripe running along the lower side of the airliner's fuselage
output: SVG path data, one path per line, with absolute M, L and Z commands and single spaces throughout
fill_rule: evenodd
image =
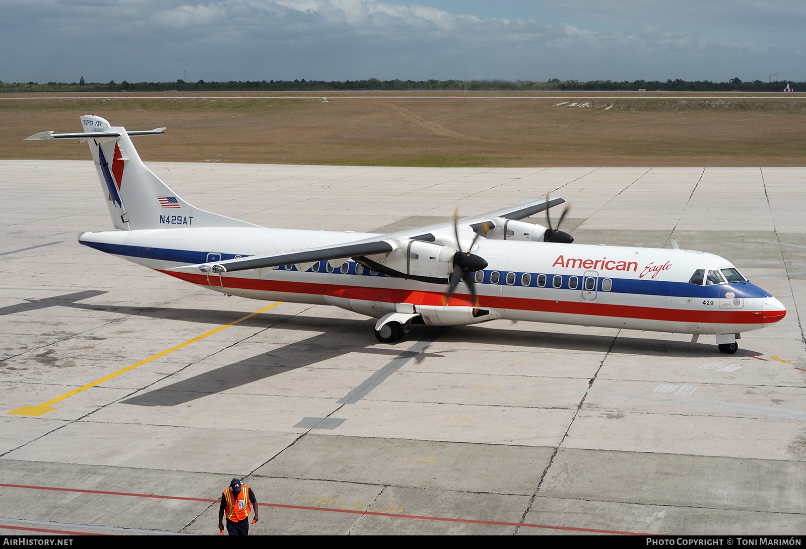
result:
M 186 282 L 209 286 L 206 275 L 182 273 L 172 270 L 159 270 L 164 275 L 171 275 Z M 273 291 L 289 294 L 330 295 L 345 299 L 364 301 L 381 301 L 384 303 L 413 303 L 415 305 L 442 305 L 441 292 L 424 292 L 399 290 L 395 288 L 378 288 L 363 286 L 341 286 L 323 283 L 301 283 L 286 280 L 247 279 L 226 277 L 222 279 L 226 288 L 239 290 Z M 469 295 L 456 295 L 451 298 L 451 305 L 469 306 Z M 458 299 L 457 299 L 458 298 Z M 677 322 L 700 322 L 708 324 L 772 324 L 786 316 L 781 311 L 690 311 L 687 309 L 667 309 L 641 307 L 638 305 L 610 305 L 606 303 L 560 301 L 555 299 L 526 299 L 479 296 L 480 307 L 496 309 L 517 309 L 520 311 L 556 312 L 573 315 L 613 316 L 617 318 L 634 318 L 640 320 L 667 320 Z

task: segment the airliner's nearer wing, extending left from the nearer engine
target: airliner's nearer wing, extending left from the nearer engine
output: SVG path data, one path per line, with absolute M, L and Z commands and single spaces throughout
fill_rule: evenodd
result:
M 227 259 L 226 261 L 175 267 L 169 270 L 191 270 L 195 268 L 203 272 L 212 270 L 214 273 L 220 274 L 236 270 L 264 269 L 291 263 L 317 262 L 323 259 L 346 259 L 359 255 L 386 254 L 394 249 L 395 247 L 388 241 L 365 241 L 357 244 L 337 244 L 336 246 L 305 250 L 303 252 L 293 252 L 290 254 L 252 255 L 248 258 Z

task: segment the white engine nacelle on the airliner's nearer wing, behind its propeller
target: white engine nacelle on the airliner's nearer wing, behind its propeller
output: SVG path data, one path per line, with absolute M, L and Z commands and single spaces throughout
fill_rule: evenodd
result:
M 385 269 L 426 279 L 447 279 L 453 272 L 456 250 L 449 246 L 409 240 L 397 242 L 397 250 L 367 258 Z M 372 267 L 371 267 L 372 268 Z

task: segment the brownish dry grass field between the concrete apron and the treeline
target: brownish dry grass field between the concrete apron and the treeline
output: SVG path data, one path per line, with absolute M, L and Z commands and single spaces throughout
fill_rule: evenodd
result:
M 806 94 L 195 93 L 0 96 L 0 159 L 89 159 L 98 114 L 155 161 L 392 166 L 803 166 Z M 224 97 L 226 96 L 226 97 Z M 236 97 L 237 96 L 237 97 Z

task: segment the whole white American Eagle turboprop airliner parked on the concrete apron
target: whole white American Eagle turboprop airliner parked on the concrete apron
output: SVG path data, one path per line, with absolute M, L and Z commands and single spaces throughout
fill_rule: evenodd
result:
M 742 332 L 786 309 L 731 262 L 697 250 L 573 244 L 533 200 L 397 233 L 269 229 L 195 208 L 135 151 L 128 131 L 82 116 L 82 131 L 27 139 L 89 143 L 115 230 L 78 235 L 85 246 L 228 295 L 316 303 L 377 318 L 394 343 L 411 324 L 510 319 L 716 336 L 736 353 Z M 521 221 L 546 212 L 547 227 Z

